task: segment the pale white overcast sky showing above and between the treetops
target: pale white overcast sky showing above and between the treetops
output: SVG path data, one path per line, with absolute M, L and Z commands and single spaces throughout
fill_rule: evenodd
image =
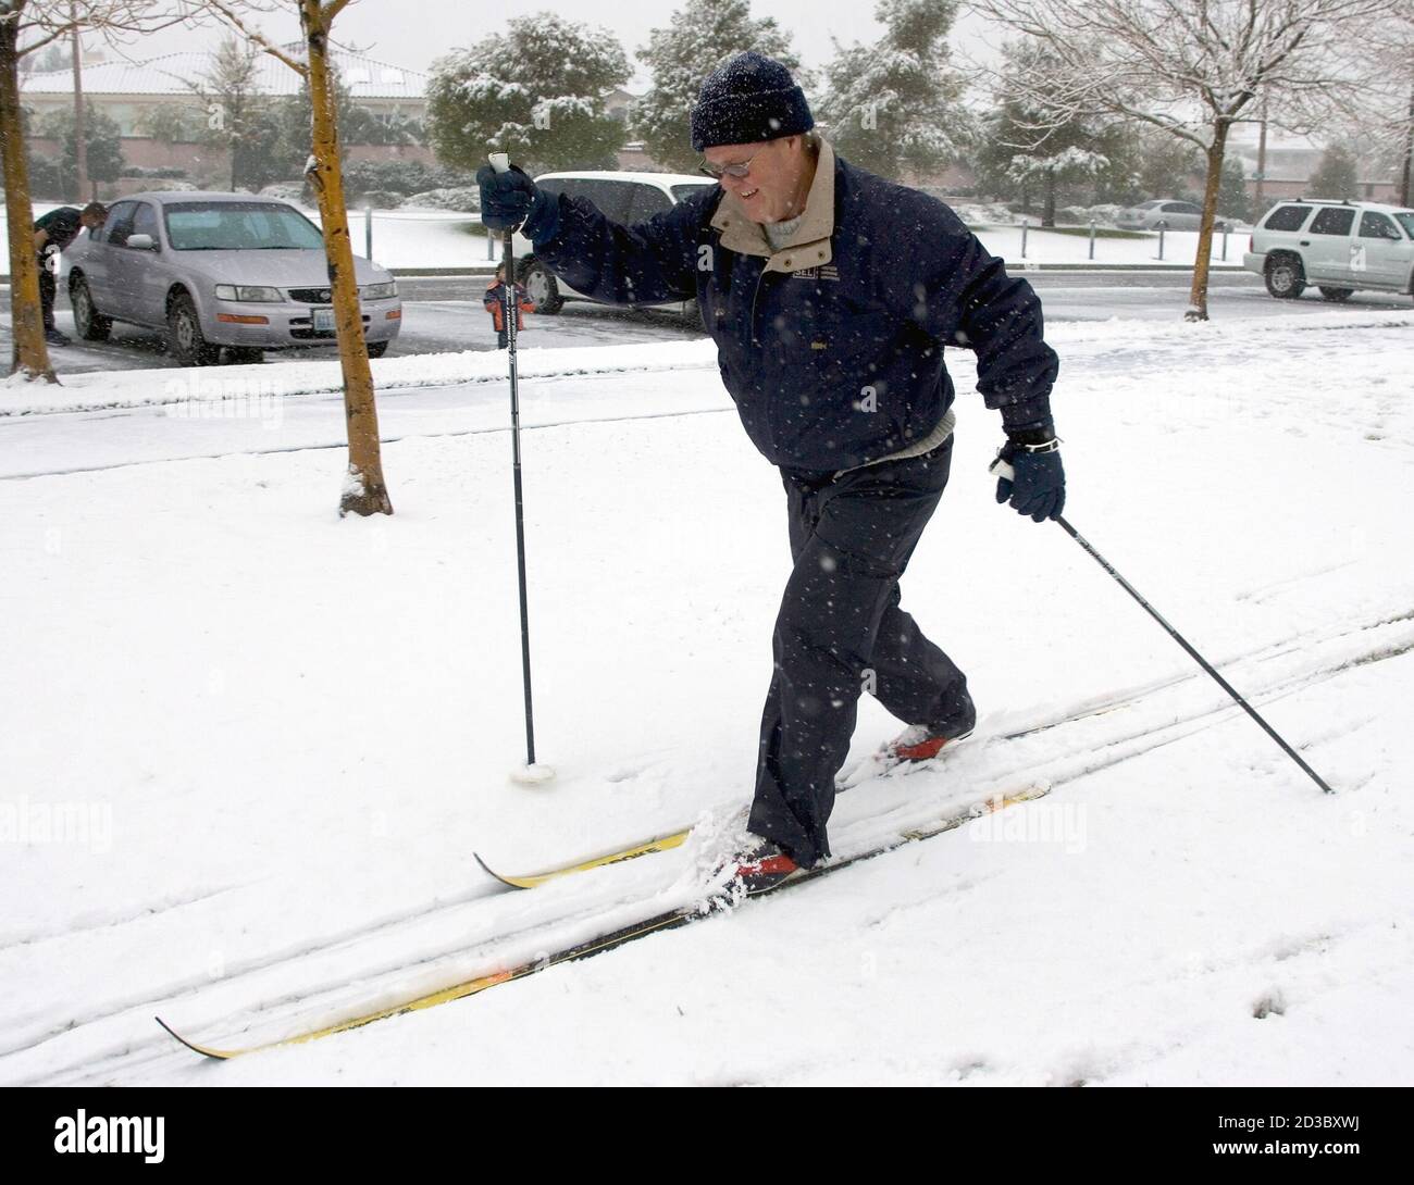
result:
M 602 25 L 619 38 L 631 64 L 639 69 L 635 52 L 648 44 L 649 31 L 666 25 L 672 14 L 687 3 L 693 0 L 530 0 L 508 11 L 553 11 L 567 20 Z M 256 24 L 280 41 L 296 40 L 300 23 L 291 0 L 271 0 L 270 7 L 276 11 Z M 335 21 L 335 38 L 392 65 L 426 71 L 434 58 L 448 49 L 469 45 L 495 31 L 495 20 L 486 7 L 468 0 L 352 0 Z M 872 0 L 752 3 L 752 16 L 775 17 L 792 34 L 792 44 L 809 68 L 823 66 L 830 59 L 831 35 L 846 44 L 877 40 L 881 27 L 872 13 Z M 981 28 L 976 17 L 967 17 L 954 28 L 952 41 L 986 52 Z M 132 58 L 147 58 L 177 49 L 201 49 L 214 45 L 219 35 L 215 27 L 174 28 L 144 37 L 123 52 Z M 646 82 L 648 76 L 638 74 L 628 89 L 642 91 Z

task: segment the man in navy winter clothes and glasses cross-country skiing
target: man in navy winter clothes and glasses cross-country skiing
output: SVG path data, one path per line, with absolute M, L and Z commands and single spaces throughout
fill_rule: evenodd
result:
M 977 352 L 1015 469 L 997 501 L 1056 518 L 1065 474 L 1041 304 L 942 202 L 841 160 L 790 72 L 740 54 L 701 88 L 703 187 L 636 226 L 482 168 L 482 221 L 523 233 L 567 284 L 609 303 L 696 297 L 752 443 L 779 467 L 795 568 L 776 618 L 751 836 L 738 878 L 769 888 L 830 854 L 834 775 L 863 690 L 909 727 L 892 757 L 971 731 L 967 680 L 899 608 L 898 580 L 952 461 L 943 348 Z

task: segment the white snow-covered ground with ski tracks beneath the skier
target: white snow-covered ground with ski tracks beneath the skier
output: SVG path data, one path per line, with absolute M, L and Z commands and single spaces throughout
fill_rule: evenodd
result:
M 884 812 L 1048 798 L 219 1066 L 153 1014 L 240 1045 L 693 898 L 691 844 L 509 895 L 471 853 L 523 870 L 745 800 L 779 479 L 706 348 L 526 354 L 559 768 L 527 789 L 501 359 L 383 363 L 411 383 L 380 404 L 390 519 L 334 515 L 318 365 L 257 368 L 288 393 L 228 393 L 239 417 L 133 406 L 129 372 L 71 382 L 109 410 L 0 420 L 0 472 L 116 467 L 0 481 L 0 1080 L 1414 1082 L 1414 314 L 1051 338 L 1068 516 L 1335 796 L 1055 525 L 994 505 L 998 424 L 953 354 L 952 486 L 904 604 L 983 718 L 937 771 L 843 796 L 836 847 Z M 895 728 L 865 701 L 855 757 Z

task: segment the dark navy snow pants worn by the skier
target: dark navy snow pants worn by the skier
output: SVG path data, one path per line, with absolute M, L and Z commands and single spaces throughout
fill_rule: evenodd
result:
M 949 437 L 839 477 L 782 469 L 795 570 L 776 617 L 748 827 L 803 867 L 830 854 L 834 775 L 861 691 L 906 724 L 971 725 L 966 676 L 899 608 L 898 590 L 952 457 Z

